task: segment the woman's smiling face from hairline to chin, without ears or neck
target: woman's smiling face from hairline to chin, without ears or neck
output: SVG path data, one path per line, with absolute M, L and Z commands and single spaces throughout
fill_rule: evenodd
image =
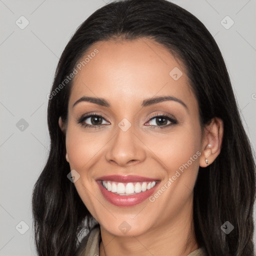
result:
M 96 42 L 88 54 L 74 77 L 65 131 L 79 196 L 113 235 L 188 221 L 205 144 L 185 70 L 146 38 Z

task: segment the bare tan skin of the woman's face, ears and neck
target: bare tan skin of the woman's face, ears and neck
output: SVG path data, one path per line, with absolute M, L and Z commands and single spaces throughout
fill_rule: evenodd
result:
M 197 100 L 185 69 L 162 45 L 147 38 L 99 41 L 86 54 L 95 48 L 99 52 L 74 77 L 68 120 L 59 118 L 59 125 L 66 134 L 66 160 L 80 175 L 74 185 L 100 223 L 100 256 L 187 255 L 198 248 L 192 223 L 198 167 L 207 166 L 205 157 L 212 163 L 219 154 L 223 123 L 213 118 L 200 127 Z M 174 67 L 183 73 L 178 80 L 169 75 Z M 110 107 L 85 101 L 72 107 L 85 95 L 105 98 Z M 176 101 L 140 106 L 145 98 L 167 95 L 187 107 Z M 103 117 L 100 127 L 77 123 L 91 112 Z M 167 126 L 168 121 L 160 128 L 157 118 L 151 119 L 156 113 L 174 116 L 177 124 Z M 123 118 L 131 124 L 125 132 L 118 127 Z M 92 121 L 89 117 L 83 122 Z M 153 202 L 115 206 L 95 181 L 102 175 L 133 174 L 159 179 L 160 188 L 197 151 L 200 156 Z M 125 234 L 118 228 L 123 221 L 130 226 Z

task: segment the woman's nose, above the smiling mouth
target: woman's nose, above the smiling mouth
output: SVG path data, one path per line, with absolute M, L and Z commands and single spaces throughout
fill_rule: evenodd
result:
M 145 159 L 145 147 L 134 133 L 134 125 L 131 125 L 126 131 L 116 127 L 116 134 L 111 139 L 106 152 L 106 160 L 119 166 L 127 166 L 142 162 Z

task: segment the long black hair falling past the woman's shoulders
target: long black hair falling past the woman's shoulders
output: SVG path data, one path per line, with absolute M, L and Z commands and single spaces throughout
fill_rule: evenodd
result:
M 79 234 L 85 228 L 90 230 L 88 221 L 93 219 L 67 178 L 70 166 L 58 118 L 66 120 L 72 79 L 63 81 L 94 42 L 143 37 L 159 42 L 184 64 L 198 101 L 201 126 L 213 117 L 223 120 L 220 154 L 206 168 L 199 167 L 194 186 L 193 224 L 198 244 L 210 256 L 254 255 L 255 163 L 224 60 L 205 26 L 166 0 L 106 4 L 77 28 L 62 52 L 48 101 L 50 151 L 32 194 L 38 255 L 74 255 Z M 234 226 L 229 234 L 220 228 L 227 220 Z

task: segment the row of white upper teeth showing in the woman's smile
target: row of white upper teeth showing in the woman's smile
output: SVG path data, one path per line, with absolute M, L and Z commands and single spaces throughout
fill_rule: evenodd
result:
M 130 195 L 134 193 L 144 192 L 155 185 L 156 181 L 152 182 L 129 182 L 129 183 L 121 183 L 121 182 L 113 182 L 102 180 L 102 185 L 108 191 L 119 195 Z

